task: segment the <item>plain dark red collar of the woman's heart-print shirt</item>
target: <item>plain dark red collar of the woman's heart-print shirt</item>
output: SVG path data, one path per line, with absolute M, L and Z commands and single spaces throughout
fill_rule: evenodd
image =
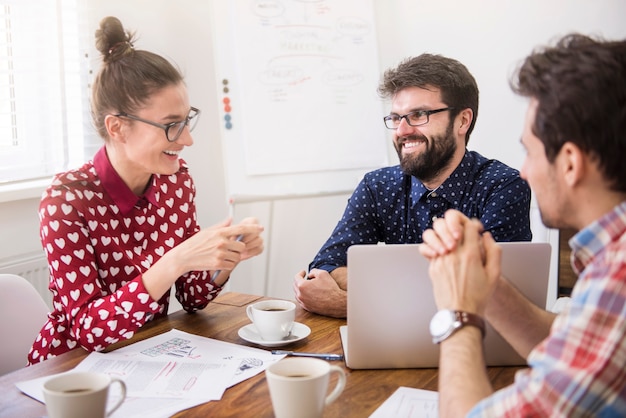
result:
M 98 177 L 102 182 L 102 187 L 111 196 L 113 202 L 120 209 L 123 214 L 129 213 L 135 206 L 141 206 L 143 201 L 148 201 L 153 205 L 158 206 L 156 199 L 156 187 L 155 177 L 152 176 L 151 184 L 148 186 L 143 195 L 137 196 L 132 190 L 124 183 L 124 180 L 117 174 L 109 157 L 106 153 L 106 147 L 100 148 L 93 159 L 93 165 L 98 173 Z

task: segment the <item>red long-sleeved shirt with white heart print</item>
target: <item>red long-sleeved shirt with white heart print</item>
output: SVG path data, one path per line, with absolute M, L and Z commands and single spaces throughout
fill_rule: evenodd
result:
M 103 350 L 167 314 L 169 292 L 153 300 L 142 274 L 200 229 L 194 198 L 184 161 L 173 175 L 153 175 L 138 197 L 104 147 L 93 162 L 54 178 L 39 207 L 53 310 L 30 350 L 30 364 L 77 346 Z M 217 296 L 222 288 L 209 281 L 206 271 L 176 281 L 185 310 L 202 309 Z

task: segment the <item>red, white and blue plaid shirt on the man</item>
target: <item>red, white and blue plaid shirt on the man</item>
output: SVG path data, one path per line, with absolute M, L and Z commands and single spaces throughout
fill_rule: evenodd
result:
M 570 240 L 571 301 L 515 383 L 471 417 L 626 416 L 626 201 Z

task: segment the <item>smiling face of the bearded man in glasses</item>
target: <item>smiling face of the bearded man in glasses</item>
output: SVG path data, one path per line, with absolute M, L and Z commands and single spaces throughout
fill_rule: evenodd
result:
M 390 113 L 405 115 L 415 110 L 445 107 L 447 104 L 442 102 L 438 89 L 409 87 L 395 94 Z M 430 115 L 428 123 L 421 126 L 411 126 L 402 119 L 394 131 L 393 143 L 402 171 L 417 177 L 427 187 L 441 184 L 465 153 L 464 138 L 455 134 L 449 111 Z

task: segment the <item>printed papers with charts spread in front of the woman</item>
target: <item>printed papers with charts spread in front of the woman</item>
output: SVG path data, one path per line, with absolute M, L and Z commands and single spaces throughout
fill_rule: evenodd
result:
M 219 400 L 227 388 L 283 357 L 171 330 L 110 353 L 90 353 L 70 372 L 101 372 L 126 383 L 127 399 L 113 417 L 160 417 Z M 43 402 L 43 382 L 50 377 L 20 382 L 17 387 Z M 115 399 L 115 393 L 111 397 Z

